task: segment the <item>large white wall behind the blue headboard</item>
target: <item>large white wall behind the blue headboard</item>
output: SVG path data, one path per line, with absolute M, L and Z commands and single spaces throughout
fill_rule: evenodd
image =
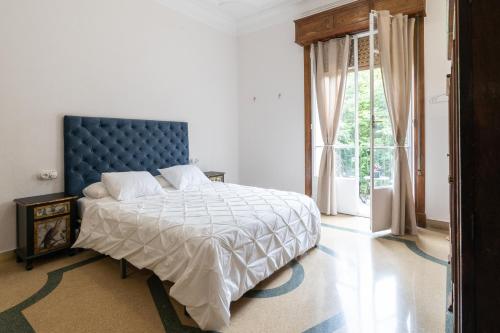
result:
M 64 189 L 65 114 L 187 121 L 191 156 L 238 181 L 235 37 L 154 0 L 3 0 L 0 45 L 0 252 L 14 198 Z

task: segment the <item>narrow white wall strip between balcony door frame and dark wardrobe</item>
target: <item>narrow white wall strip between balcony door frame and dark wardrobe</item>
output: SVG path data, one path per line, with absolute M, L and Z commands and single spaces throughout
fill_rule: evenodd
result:
M 430 102 L 446 93 L 446 75 L 450 73 L 447 2 L 427 1 L 425 18 L 425 206 L 428 219 L 449 222 L 448 103 Z

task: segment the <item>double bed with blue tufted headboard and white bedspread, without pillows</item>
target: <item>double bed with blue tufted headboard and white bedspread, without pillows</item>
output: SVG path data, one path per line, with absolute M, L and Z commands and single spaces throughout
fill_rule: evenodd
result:
M 110 171 L 189 161 L 187 123 L 66 116 L 66 192 Z M 87 200 L 75 247 L 126 259 L 173 282 L 170 296 L 200 328 L 229 325 L 246 291 L 316 246 L 320 214 L 302 194 L 206 183 L 127 201 Z

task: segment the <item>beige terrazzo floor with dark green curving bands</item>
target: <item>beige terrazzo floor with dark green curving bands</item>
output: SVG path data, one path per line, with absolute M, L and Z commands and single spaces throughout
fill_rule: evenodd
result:
M 368 221 L 323 217 L 318 248 L 234 302 L 224 332 L 448 332 L 447 234 L 371 234 Z M 92 251 L 0 261 L 0 332 L 199 332 L 170 284 Z

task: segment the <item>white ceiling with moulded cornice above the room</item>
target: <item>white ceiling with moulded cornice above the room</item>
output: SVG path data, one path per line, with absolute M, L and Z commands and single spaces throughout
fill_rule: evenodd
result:
M 232 35 L 291 22 L 354 0 L 157 0 Z

